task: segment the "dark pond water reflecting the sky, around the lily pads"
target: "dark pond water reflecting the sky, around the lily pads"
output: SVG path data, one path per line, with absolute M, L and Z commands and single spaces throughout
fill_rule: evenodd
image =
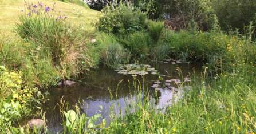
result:
M 195 72 L 198 72 L 198 74 L 194 75 L 200 75 L 200 72 L 202 71 L 202 65 L 198 63 L 195 64 L 190 62 L 189 64 L 172 64 L 171 62 L 164 62 L 143 62 L 143 64 L 149 64 L 151 67 L 154 67 L 160 72 L 160 74 L 166 75 L 162 76 L 163 80 L 159 81 L 161 82 L 159 84 L 160 88 L 163 89 L 160 89 L 160 91 L 157 92 L 158 101 L 156 101 L 155 105 L 159 108 L 162 108 L 163 105 L 171 104 L 171 102 L 168 100 L 172 99 L 173 96 L 177 94 L 177 92 L 174 92 L 165 86 L 166 83 L 170 83 L 172 87 L 178 88 L 174 82 L 166 82 L 166 80 L 170 79 L 180 79 L 178 71 L 176 70 L 177 67 L 182 70 L 183 78 L 190 77 L 189 72 L 194 74 L 193 68 L 195 68 Z M 155 91 L 155 88 L 152 88 L 151 86 L 156 84 L 154 82 L 156 82 L 157 79 L 159 79 L 159 76 L 153 75 L 151 72 L 144 75 L 144 83 L 148 87 L 148 92 Z M 76 104 L 79 107 L 82 106 L 80 112 L 85 112 L 88 117 L 95 114 L 100 114 L 101 112 L 99 112 L 99 106 L 102 105 L 103 111 L 107 110 L 104 116 L 108 119 L 108 112 L 110 110 L 109 105 L 111 105 L 111 97 L 108 88 L 112 90 L 115 104 L 117 105 L 117 101 L 119 101 L 119 104 L 122 106 L 122 112 L 125 111 L 125 98 L 129 98 L 130 93 L 133 94 L 133 91 L 135 90 L 134 87 L 132 87 L 132 82 L 134 81 L 134 77 L 132 75 L 118 74 L 117 71 L 114 71 L 114 69 L 104 66 L 89 72 L 83 78 L 80 78 L 80 80 L 82 82 L 76 82 L 68 87 L 57 86 L 49 89 L 50 95 L 48 98 L 50 100 L 46 102 L 42 108 L 44 109 L 43 113 L 46 112 L 45 119 L 48 121 L 48 129 L 51 131 L 54 130 L 56 132 L 61 129 L 60 123 L 62 123 L 62 117 L 57 103 L 60 104 L 60 99 L 62 97 L 62 100 L 65 100 L 65 103 L 68 103 L 69 106 L 71 106 L 70 109 L 73 109 L 72 106 Z M 123 81 L 119 84 L 118 90 L 116 91 L 117 84 L 120 82 L 120 80 Z M 128 80 L 131 88 L 129 88 Z M 143 78 L 140 75 L 136 76 L 136 82 L 138 82 L 137 80 L 139 80 L 141 83 L 143 82 Z M 186 83 L 188 84 L 188 82 Z M 117 94 L 117 98 L 115 97 L 115 94 Z M 117 110 L 119 109 L 117 108 Z M 119 113 L 119 111 L 116 112 Z

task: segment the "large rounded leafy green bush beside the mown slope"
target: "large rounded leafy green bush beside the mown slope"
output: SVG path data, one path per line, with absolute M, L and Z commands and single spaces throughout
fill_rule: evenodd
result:
M 140 9 L 131 6 L 129 3 L 120 2 L 116 7 L 105 6 L 96 29 L 111 33 L 133 33 L 143 29 L 147 15 L 141 13 Z

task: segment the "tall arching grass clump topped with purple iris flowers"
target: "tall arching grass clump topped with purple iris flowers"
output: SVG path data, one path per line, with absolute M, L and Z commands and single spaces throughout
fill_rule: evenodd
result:
M 94 66 L 86 46 L 94 36 L 92 32 L 73 26 L 66 21 L 65 14 L 41 2 L 25 3 L 24 6 L 26 10 L 19 15 L 17 33 L 33 41 L 45 54 L 49 52 L 59 70 L 69 76 Z

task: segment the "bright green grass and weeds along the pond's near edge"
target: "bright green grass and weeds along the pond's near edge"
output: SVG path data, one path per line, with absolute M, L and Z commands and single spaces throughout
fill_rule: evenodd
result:
M 256 92 L 247 86 L 246 80 L 241 81 L 234 73 L 210 81 L 206 70 L 201 78 L 190 77 L 195 80 L 189 84 L 190 90 L 180 90 L 168 100 L 171 105 L 161 108 L 155 105 L 159 103 L 157 91 L 150 92 L 147 85 L 136 78 L 129 84 L 135 91 L 125 99 L 124 106 L 115 105 L 115 94 L 109 89 L 112 105 L 108 127 L 100 114 L 86 119 L 85 113 L 80 115 L 79 107 L 75 107 L 76 111 L 68 110 L 63 108 L 65 101 L 61 101 L 59 105 L 65 111 L 62 115 L 64 131 L 59 133 L 255 133 Z M 180 88 L 183 86 L 185 83 L 179 84 Z M 118 85 L 115 90 L 119 90 Z M 116 113 L 121 107 L 125 107 L 125 111 Z M 101 123 L 95 124 L 99 119 Z

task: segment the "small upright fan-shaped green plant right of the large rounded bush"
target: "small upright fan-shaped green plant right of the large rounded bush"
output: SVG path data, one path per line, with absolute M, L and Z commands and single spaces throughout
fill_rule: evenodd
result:
M 151 21 L 149 26 L 149 35 L 155 43 L 160 39 L 161 34 L 164 30 L 164 22 L 153 22 Z

